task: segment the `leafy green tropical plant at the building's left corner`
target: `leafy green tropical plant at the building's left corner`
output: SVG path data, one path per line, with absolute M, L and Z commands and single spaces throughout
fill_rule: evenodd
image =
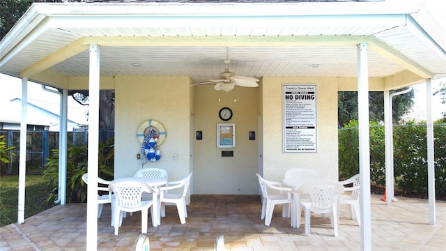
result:
M 47 201 L 55 201 L 58 197 L 59 187 L 59 150 L 53 150 L 54 155 L 48 158 L 48 163 L 43 171 L 44 178 L 54 188 Z M 106 180 L 112 180 L 114 176 L 114 139 L 99 143 L 99 176 Z M 85 202 L 86 184 L 82 176 L 87 172 L 88 151 L 87 146 L 69 146 L 67 153 L 67 202 Z

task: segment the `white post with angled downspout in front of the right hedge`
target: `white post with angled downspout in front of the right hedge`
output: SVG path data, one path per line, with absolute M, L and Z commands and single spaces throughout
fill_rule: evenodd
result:
M 392 205 L 394 198 L 394 167 L 393 167 L 393 109 L 392 99 L 394 96 L 408 93 L 412 89 L 398 91 L 390 94 L 389 90 L 384 91 L 384 132 L 385 132 L 385 194 L 387 205 Z M 387 112 L 386 112 L 387 111 Z

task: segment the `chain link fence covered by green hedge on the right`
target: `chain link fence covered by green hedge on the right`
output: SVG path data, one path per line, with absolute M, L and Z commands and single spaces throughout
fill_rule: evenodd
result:
M 339 137 L 339 180 L 359 173 L 359 140 L 355 123 L 341 128 Z M 446 199 L 446 124 L 433 126 L 436 196 Z M 401 194 L 427 197 L 426 125 L 393 127 L 394 187 Z M 370 126 L 370 180 L 385 186 L 384 126 Z

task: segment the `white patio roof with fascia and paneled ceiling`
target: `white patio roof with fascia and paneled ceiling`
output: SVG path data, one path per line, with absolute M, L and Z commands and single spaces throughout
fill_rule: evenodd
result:
M 367 43 L 368 75 L 383 89 L 446 75 L 444 26 L 423 1 L 118 2 L 33 3 L 0 43 L 0 72 L 76 89 L 43 73 L 88 76 L 98 44 L 102 76 L 198 83 L 231 59 L 248 77 L 355 78 L 357 44 Z

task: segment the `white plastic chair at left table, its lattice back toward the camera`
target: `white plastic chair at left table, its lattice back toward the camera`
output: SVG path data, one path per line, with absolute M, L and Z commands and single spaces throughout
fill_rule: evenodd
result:
M 157 204 L 157 196 L 153 196 L 153 200 L 142 200 L 144 192 L 157 193 L 146 183 L 139 181 L 129 181 L 121 179 L 113 181 L 109 185 L 109 191 L 114 193 L 114 234 L 118 234 L 118 228 L 122 225 L 124 212 L 141 211 L 141 233 L 147 234 L 148 208 L 152 207 L 152 225 L 157 227 L 157 220 L 153 217 L 153 205 Z

